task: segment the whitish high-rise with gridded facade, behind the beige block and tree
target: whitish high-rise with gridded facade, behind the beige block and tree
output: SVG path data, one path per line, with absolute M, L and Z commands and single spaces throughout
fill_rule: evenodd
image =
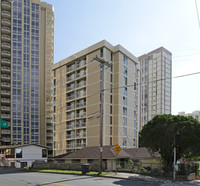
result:
M 171 113 L 172 54 L 158 48 L 139 57 L 141 68 L 141 125 L 157 114 Z

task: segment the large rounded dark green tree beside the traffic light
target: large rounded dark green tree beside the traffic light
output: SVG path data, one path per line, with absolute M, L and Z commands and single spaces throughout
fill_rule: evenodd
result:
M 179 134 L 181 145 L 177 159 L 200 155 L 200 122 L 187 116 L 155 116 L 140 131 L 140 146 L 158 152 L 163 163 L 172 166 L 175 134 Z

